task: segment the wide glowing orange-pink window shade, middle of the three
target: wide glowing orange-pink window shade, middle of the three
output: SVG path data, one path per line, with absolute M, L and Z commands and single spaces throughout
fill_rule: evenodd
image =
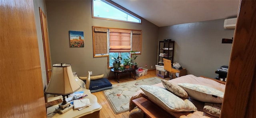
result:
M 131 30 L 109 29 L 109 52 L 130 52 Z

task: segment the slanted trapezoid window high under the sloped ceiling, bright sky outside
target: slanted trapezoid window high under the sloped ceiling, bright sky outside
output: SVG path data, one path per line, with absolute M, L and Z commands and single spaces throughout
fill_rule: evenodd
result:
M 116 5 L 116 6 L 115 6 Z M 92 0 L 92 17 L 106 20 L 141 23 L 141 19 L 122 10 L 118 4 L 106 0 Z M 124 8 L 123 8 L 124 9 Z M 128 10 L 127 10 L 128 11 Z M 130 12 L 130 11 L 129 11 Z

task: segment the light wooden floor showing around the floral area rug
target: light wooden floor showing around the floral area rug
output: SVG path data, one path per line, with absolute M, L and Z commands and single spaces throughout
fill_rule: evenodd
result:
M 156 76 L 156 70 L 148 70 L 147 75 L 136 77 L 136 80 L 142 80 L 145 78 L 151 78 Z M 127 82 L 132 81 L 133 78 L 120 78 L 120 82 Z M 117 80 L 109 79 L 109 81 L 112 84 L 117 84 Z M 106 100 L 104 94 L 102 91 L 100 92 L 94 92 L 92 93 L 98 98 L 99 104 L 102 106 L 102 109 L 100 110 L 100 118 L 143 118 L 143 112 L 139 110 L 138 108 L 132 110 L 131 112 L 123 112 L 120 114 L 115 114 L 113 110 L 111 109 L 110 105 L 108 104 L 108 101 Z

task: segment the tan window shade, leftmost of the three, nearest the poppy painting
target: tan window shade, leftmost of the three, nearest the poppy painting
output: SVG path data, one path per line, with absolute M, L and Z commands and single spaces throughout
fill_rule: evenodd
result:
M 106 28 L 94 28 L 94 51 L 95 54 L 107 54 L 108 53 L 108 29 Z M 94 54 L 94 55 L 95 55 Z

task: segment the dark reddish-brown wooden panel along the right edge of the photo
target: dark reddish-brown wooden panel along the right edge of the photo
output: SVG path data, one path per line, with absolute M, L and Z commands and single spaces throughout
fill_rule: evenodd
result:
M 256 1 L 241 0 L 221 118 L 256 118 Z

